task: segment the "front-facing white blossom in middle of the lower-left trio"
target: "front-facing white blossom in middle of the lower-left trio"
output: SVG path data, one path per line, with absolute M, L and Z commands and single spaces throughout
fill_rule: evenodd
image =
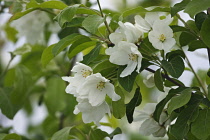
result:
M 114 86 L 100 73 L 88 76 L 78 92 L 81 97 L 87 97 L 92 106 L 101 105 L 105 101 L 106 95 L 113 101 L 120 99 L 120 96 L 114 91 Z

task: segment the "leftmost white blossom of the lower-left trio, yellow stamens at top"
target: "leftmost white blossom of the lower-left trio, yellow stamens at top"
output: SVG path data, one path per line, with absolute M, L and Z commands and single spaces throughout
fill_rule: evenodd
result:
M 77 97 L 79 96 L 78 89 L 84 83 L 86 77 L 92 74 L 93 70 L 91 67 L 77 62 L 71 71 L 75 72 L 74 77 L 64 76 L 62 79 L 69 82 L 69 85 L 66 87 L 66 93 L 74 94 Z

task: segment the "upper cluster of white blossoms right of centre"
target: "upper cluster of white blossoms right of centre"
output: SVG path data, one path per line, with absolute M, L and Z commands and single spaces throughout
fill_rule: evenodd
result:
M 130 75 L 135 69 L 139 73 L 142 55 L 137 44 L 148 34 L 149 41 L 158 50 L 168 51 L 175 45 L 173 31 L 169 27 L 172 22 L 170 15 L 158 12 L 148 12 L 145 18 L 135 16 L 135 24 L 129 22 L 119 24 L 119 29 L 110 34 L 114 47 L 106 49 L 110 62 L 117 65 L 127 65 L 120 77 Z M 140 44 L 141 45 L 141 44 Z

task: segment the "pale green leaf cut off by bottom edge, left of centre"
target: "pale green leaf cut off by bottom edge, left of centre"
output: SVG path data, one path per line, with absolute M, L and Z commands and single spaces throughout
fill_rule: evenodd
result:
M 59 130 L 58 132 L 53 134 L 51 140 L 68 140 L 69 132 L 70 132 L 71 128 L 72 127 L 65 127 L 63 129 Z

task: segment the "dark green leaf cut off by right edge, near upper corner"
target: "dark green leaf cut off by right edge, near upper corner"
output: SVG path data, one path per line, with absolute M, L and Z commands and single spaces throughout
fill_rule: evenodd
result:
M 210 3 L 210 1 L 209 1 Z M 210 7 L 210 5 L 209 5 Z M 203 42 L 210 48 L 210 16 L 203 22 L 202 27 L 201 27 L 201 38 Z

